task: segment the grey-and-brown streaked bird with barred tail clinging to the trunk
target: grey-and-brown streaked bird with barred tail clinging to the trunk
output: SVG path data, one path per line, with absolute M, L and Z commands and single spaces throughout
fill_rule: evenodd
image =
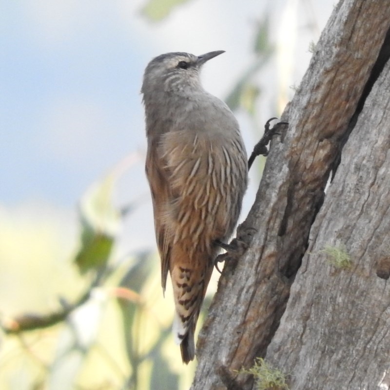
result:
M 165 295 L 169 272 L 173 333 L 186 364 L 195 358 L 195 326 L 215 258 L 234 232 L 248 185 L 238 122 L 200 81 L 202 66 L 222 53 L 156 56 L 141 88 L 161 285 Z

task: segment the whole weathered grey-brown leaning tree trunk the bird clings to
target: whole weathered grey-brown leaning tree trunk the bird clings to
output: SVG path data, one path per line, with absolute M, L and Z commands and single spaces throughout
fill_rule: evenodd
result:
M 389 28 L 390 0 L 335 7 L 243 224 L 252 242 L 220 278 L 192 390 L 255 389 L 237 371 L 256 356 L 291 390 L 389 389 Z

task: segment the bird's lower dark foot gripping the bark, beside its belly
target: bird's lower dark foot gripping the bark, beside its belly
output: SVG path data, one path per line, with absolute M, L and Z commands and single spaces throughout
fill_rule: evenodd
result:
M 227 252 L 218 255 L 214 260 L 216 270 L 221 274 L 218 263 L 228 260 L 230 263 L 236 263 L 237 260 L 246 252 L 249 244 L 252 241 L 253 233 L 256 231 L 254 227 L 247 227 L 242 223 L 237 228 L 237 237 L 230 241 L 229 244 L 220 240 L 215 240 L 215 245 L 225 249 Z

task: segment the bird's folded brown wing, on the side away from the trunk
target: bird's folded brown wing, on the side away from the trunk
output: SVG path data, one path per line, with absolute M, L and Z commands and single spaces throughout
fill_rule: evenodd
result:
M 204 150 L 204 147 L 198 145 L 195 132 L 170 131 L 158 138 L 149 139 L 146 175 L 153 198 L 164 290 L 177 236 L 187 237 L 194 230 L 190 226 L 200 226 L 196 217 L 199 213 L 193 212 L 193 204 L 203 203 L 203 199 L 207 197 L 205 178 L 196 177 L 197 168 L 206 164 L 207 154 L 204 155 Z M 207 179 L 210 181 L 210 178 Z M 198 198 L 196 194 L 201 195 L 201 199 L 195 199 Z M 186 221 L 189 223 L 185 223 Z M 198 247 L 197 250 L 199 249 L 201 248 Z

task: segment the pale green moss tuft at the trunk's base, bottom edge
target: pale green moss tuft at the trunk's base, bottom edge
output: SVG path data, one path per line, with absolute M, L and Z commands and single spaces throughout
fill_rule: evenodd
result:
M 285 374 L 263 358 L 257 357 L 254 366 L 240 373 L 251 374 L 256 382 L 256 390 L 288 390 Z

